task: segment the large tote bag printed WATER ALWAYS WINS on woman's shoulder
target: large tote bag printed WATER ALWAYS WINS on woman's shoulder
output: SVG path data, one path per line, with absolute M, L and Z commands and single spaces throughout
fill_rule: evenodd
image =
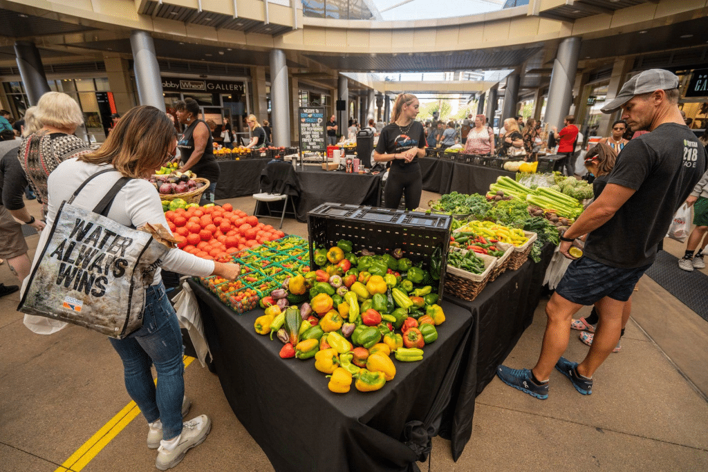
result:
M 152 234 L 105 216 L 130 178 L 120 178 L 93 211 L 72 205 L 84 186 L 105 172 L 117 171 L 91 175 L 62 202 L 17 309 L 122 339 L 142 326 L 145 288 L 169 248 Z

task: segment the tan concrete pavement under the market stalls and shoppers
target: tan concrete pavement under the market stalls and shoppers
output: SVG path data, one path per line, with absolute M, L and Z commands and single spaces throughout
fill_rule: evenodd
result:
M 421 202 L 437 197 L 423 193 Z M 253 212 L 251 197 L 227 201 Z M 35 202 L 28 209 L 39 214 Z M 282 230 L 307 237 L 307 225 L 292 219 Z M 28 237 L 30 257 L 37 240 Z M 683 248 L 666 243 L 678 256 Z M 7 263 L 0 265 L 0 282 L 16 284 L 13 277 Z M 595 373 L 591 396 L 581 396 L 558 372 L 546 401 L 494 379 L 476 399 L 472 439 L 462 456 L 453 462 L 450 443 L 436 437 L 430 470 L 708 471 L 708 323 L 648 277 L 633 300 L 622 350 Z M 156 452 L 145 445 L 147 424 L 131 408 L 107 338 L 76 326 L 35 335 L 23 326 L 18 301 L 18 292 L 0 299 L 0 470 L 156 470 Z M 505 364 L 535 363 L 546 303 Z M 573 331 L 566 357 L 579 361 L 587 350 Z M 215 374 L 192 362 L 185 385 L 193 402 L 187 418 L 207 414 L 213 426 L 172 470 L 273 470 L 229 408 Z

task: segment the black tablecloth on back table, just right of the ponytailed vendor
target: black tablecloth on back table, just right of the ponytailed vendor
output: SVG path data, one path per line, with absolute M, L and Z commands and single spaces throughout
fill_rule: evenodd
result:
M 497 168 L 472 166 L 462 162 L 445 161 L 427 157 L 421 159 L 423 171 L 423 190 L 445 195 L 450 192 L 479 193 L 489 192 L 489 185 L 496 182 L 500 175 L 515 178 L 515 173 Z

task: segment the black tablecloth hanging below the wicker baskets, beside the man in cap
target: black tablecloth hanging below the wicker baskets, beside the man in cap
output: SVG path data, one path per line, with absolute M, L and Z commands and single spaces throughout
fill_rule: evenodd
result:
M 554 246 L 547 243 L 539 263 L 528 260 L 518 270 L 504 272 L 494 282 L 489 282 L 474 301 L 445 294 L 446 300 L 468 309 L 474 318 L 440 432 L 442 437 L 451 440 L 455 461 L 472 436 L 474 398 L 491 382 L 498 364 L 506 359 L 533 322 L 553 251 Z

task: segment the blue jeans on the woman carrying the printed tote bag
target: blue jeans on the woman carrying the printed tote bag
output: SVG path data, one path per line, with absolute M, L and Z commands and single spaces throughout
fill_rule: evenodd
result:
M 182 332 L 162 282 L 145 291 L 142 328 L 123 339 L 109 338 L 125 372 L 125 389 L 147 422 L 161 420 L 163 439 L 182 432 L 184 362 Z M 157 388 L 150 366 L 155 364 Z

